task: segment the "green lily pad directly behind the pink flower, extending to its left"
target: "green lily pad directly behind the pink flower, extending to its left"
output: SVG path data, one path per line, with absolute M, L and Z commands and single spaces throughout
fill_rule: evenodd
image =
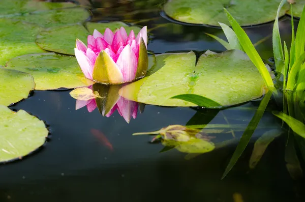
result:
M 86 27 L 89 32 L 80 24 L 53 27 L 40 32 L 37 36 L 36 42 L 42 49 L 74 55 L 76 39 L 80 39 L 82 42 L 87 44 L 87 36 L 92 35 L 95 29 L 103 34 L 107 27 L 114 31 L 115 28 L 121 26 L 125 27 L 128 34 L 131 30 L 134 30 L 137 35 L 141 30 L 138 26 L 129 26 L 123 22 L 87 22 Z

